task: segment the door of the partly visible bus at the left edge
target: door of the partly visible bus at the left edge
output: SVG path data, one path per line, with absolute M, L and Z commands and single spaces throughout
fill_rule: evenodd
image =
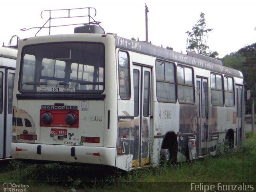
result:
M 0 69 L 0 158 L 9 158 L 12 139 L 14 70 Z

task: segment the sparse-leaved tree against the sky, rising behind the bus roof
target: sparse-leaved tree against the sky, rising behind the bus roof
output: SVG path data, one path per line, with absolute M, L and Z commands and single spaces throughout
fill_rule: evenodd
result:
M 216 58 L 216 56 L 218 56 L 218 52 L 210 51 L 209 46 L 206 44 L 208 32 L 211 31 L 212 29 L 206 28 L 204 13 L 201 13 L 200 20 L 198 20 L 197 24 L 192 27 L 192 31 L 186 32 L 189 36 L 189 38 L 187 38 L 186 49 Z

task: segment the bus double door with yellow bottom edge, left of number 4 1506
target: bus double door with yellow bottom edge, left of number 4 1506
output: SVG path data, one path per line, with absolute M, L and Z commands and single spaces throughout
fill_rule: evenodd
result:
M 150 131 L 150 87 L 151 69 L 133 66 L 134 84 L 134 157 L 132 166 L 144 166 L 149 163 Z

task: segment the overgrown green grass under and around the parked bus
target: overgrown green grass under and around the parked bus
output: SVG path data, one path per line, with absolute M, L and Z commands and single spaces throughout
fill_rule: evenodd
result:
M 253 182 L 256 189 L 256 134 L 246 133 L 246 142 L 238 151 L 226 151 L 217 157 L 183 162 L 176 166 L 158 166 L 118 172 L 110 168 L 88 168 L 55 164 L 24 164 L 11 160 L 0 166 L 0 183 L 29 184 L 31 191 L 85 192 L 113 191 L 191 191 L 191 182 Z M 1 189 L 1 188 L 0 188 Z M 29 191 L 29 190 L 28 190 Z

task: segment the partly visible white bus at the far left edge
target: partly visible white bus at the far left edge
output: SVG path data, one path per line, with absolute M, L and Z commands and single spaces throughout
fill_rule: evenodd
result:
M 0 47 L 0 160 L 11 158 L 12 95 L 17 49 Z

